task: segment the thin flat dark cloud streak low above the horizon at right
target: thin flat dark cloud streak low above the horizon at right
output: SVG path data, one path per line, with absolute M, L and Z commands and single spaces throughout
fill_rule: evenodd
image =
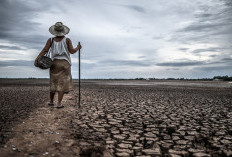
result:
M 183 67 L 183 66 L 194 66 L 194 65 L 202 65 L 205 62 L 201 61 L 190 61 L 190 62 L 163 62 L 156 64 L 157 66 L 171 66 L 171 67 Z

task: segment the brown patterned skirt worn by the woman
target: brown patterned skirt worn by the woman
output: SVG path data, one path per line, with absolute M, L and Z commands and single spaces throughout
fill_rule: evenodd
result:
M 50 92 L 68 93 L 72 89 L 71 65 L 64 59 L 54 59 L 50 68 Z

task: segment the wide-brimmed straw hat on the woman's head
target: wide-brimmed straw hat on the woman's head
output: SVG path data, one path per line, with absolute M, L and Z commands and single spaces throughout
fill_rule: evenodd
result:
M 55 25 L 49 28 L 49 32 L 55 36 L 63 36 L 69 33 L 69 28 L 63 25 L 62 22 L 57 22 Z

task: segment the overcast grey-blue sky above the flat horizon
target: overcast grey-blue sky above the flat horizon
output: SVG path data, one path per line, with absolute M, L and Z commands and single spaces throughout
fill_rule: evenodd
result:
M 231 0 L 1 0 L 0 77 L 49 77 L 34 59 L 57 21 L 82 78 L 232 75 Z M 72 55 L 78 77 L 78 55 Z

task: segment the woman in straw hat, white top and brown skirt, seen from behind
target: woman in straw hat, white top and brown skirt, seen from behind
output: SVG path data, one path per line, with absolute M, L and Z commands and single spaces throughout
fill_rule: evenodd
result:
M 43 50 L 35 59 L 34 65 L 38 67 L 38 59 L 50 51 L 50 58 L 53 60 L 50 73 L 50 103 L 54 106 L 54 96 L 58 93 L 58 102 L 55 107 L 63 108 L 61 103 L 65 93 L 73 90 L 72 74 L 71 74 L 71 57 L 70 54 L 76 53 L 82 48 L 80 44 L 73 47 L 72 41 L 66 38 L 70 29 L 63 25 L 62 22 L 56 22 L 49 28 L 49 32 L 54 35 L 54 38 L 49 38 Z

